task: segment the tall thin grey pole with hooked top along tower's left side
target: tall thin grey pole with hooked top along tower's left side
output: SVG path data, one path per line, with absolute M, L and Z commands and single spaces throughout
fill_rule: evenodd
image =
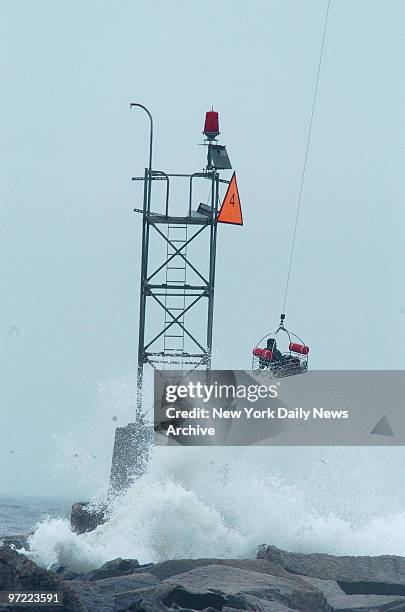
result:
M 147 180 L 147 197 L 144 199 L 143 207 L 143 231 L 142 231 L 142 272 L 141 272 L 141 284 L 146 281 L 147 276 L 147 255 L 148 251 L 147 243 L 149 241 L 149 227 L 146 223 L 146 215 L 150 213 L 150 202 L 152 193 L 152 150 L 153 150 L 153 119 L 150 111 L 143 104 L 138 102 L 131 102 L 129 108 L 133 107 L 142 108 L 148 115 L 150 120 L 150 133 L 149 133 L 149 168 L 148 168 L 148 180 Z M 137 371 L 137 398 L 136 398 L 136 416 L 137 420 L 142 419 L 142 384 L 143 384 L 143 355 L 142 349 L 145 339 L 145 310 L 146 310 L 146 296 L 141 291 L 140 298 L 140 311 L 139 311 L 139 340 L 138 340 L 138 371 Z

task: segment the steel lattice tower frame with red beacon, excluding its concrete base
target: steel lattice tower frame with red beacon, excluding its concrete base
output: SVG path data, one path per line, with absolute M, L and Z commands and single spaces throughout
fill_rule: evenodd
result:
M 214 111 L 210 114 L 217 116 Z M 153 123 L 151 117 L 150 119 L 152 147 Z M 218 122 L 217 119 L 216 121 Z M 158 370 L 211 367 L 219 185 L 229 183 L 228 180 L 220 178 L 218 170 L 230 169 L 231 165 L 225 147 L 215 143 L 219 134 L 218 128 L 208 133 L 205 129 L 204 134 L 208 155 L 207 166 L 203 172 L 173 174 L 153 170 L 150 149 L 150 167 L 145 169 L 144 176 L 133 177 L 134 181 L 143 181 L 144 185 L 143 207 L 135 209 L 142 214 L 143 219 L 137 371 L 138 416 L 143 412 L 142 384 L 146 364 Z M 188 197 L 183 202 L 182 213 L 173 211 L 170 200 L 172 183 L 179 180 L 188 182 Z M 154 190 L 157 182 L 162 181 L 165 185 L 165 195 L 163 206 L 160 206 L 159 210 Z M 209 185 L 207 204 L 195 201 L 197 181 Z M 151 251 L 157 251 L 157 247 L 151 246 L 152 234 L 165 246 L 164 257 L 154 264 L 151 263 Z M 193 250 L 196 243 L 200 243 L 201 259 L 202 240 L 205 240 L 205 261 L 196 262 L 193 259 Z M 201 316 L 190 316 L 190 311 L 195 310 L 201 301 L 205 302 L 204 319 Z M 162 325 L 160 329 L 155 329 L 154 333 L 151 333 L 149 326 L 151 302 L 158 304 L 163 311 Z

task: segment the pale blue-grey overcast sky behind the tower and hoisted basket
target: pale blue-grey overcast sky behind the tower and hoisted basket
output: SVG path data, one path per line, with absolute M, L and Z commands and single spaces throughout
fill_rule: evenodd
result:
M 219 228 L 214 344 L 249 367 L 282 306 L 325 9 L 2 2 L 0 491 L 74 495 L 52 436 L 91 427 L 100 383 L 134 368 L 148 125 L 130 101 L 166 171 L 201 169 L 220 112 L 245 226 Z M 313 368 L 405 365 L 404 17 L 332 0 L 287 307 Z

